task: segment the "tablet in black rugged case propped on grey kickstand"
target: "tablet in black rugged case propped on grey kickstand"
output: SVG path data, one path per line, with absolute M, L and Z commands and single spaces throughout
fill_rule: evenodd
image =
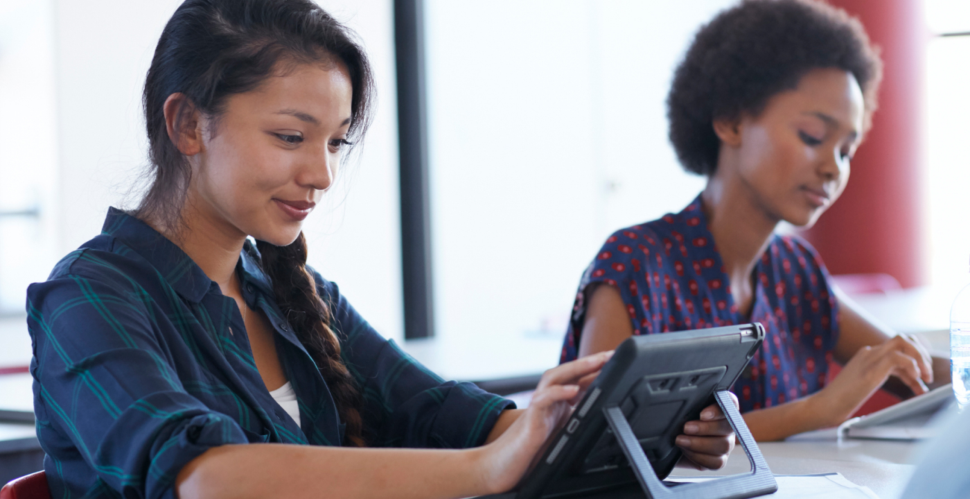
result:
M 763 339 L 757 323 L 631 337 L 551 435 L 514 497 L 591 497 L 630 486 L 639 497 L 655 498 L 775 491 L 774 478 L 727 394 Z M 667 487 L 661 480 L 681 457 L 674 439 L 684 423 L 699 419 L 700 411 L 714 403 L 747 450 L 752 473 Z

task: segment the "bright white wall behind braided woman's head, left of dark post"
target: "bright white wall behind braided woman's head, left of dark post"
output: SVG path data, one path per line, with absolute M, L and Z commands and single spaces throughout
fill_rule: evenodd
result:
M 181 2 L 53 2 L 63 254 L 100 232 L 109 206 L 130 207 L 139 199 L 131 187 L 146 165 L 142 85 L 162 28 Z M 363 37 L 380 102 L 361 160 L 329 196 L 332 211 L 307 220 L 309 259 L 379 331 L 401 337 L 391 1 L 320 4 Z

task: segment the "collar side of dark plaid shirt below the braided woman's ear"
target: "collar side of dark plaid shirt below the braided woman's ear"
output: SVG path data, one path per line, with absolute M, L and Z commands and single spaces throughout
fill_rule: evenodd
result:
M 202 301 L 213 284 L 185 251 L 134 216 L 109 208 L 101 232 L 145 258 L 179 295 L 191 302 Z

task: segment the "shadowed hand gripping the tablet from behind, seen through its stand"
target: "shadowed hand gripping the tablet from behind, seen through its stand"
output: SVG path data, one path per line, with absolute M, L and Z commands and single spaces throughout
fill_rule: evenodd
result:
M 730 398 L 738 407 L 737 396 L 731 393 Z M 677 436 L 676 443 L 684 451 L 677 467 L 720 470 L 734 449 L 734 430 L 721 407 L 713 404 L 700 412 L 700 420 L 684 424 L 684 434 Z

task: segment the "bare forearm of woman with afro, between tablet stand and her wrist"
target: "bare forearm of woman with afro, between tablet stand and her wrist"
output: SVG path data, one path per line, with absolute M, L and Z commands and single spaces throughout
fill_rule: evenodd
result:
M 815 406 L 816 399 L 808 396 L 778 406 L 751 411 L 745 413 L 743 417 L 758 442 L 784 440 L 796 433 L 838 424 L 838 421 L 825 420 L 823 413 Z

